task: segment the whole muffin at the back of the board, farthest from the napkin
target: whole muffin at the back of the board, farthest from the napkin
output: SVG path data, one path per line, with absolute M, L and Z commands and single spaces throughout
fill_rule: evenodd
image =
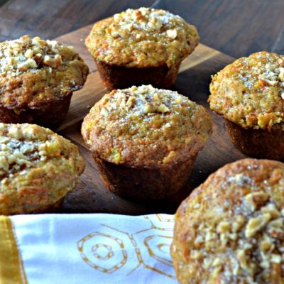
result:
M 94 24 L 86 39 L 108 89 L 170 87 L 199 41 L 195 26 L 168 11 L 128 9 Z

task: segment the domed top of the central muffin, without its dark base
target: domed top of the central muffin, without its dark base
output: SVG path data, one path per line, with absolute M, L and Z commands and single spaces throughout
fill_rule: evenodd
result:
M 82 124 L 91 151 L 111 163 L 143 167 L 187 160 L 211 133 L 204 107 L 151 85 L 105 94 Z

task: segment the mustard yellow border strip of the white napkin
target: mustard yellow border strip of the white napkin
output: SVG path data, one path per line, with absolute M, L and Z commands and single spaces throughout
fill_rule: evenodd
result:
M 28 280 L 18 251 L 11 219 L 0 216 L 0 284 L 26 284 Z

